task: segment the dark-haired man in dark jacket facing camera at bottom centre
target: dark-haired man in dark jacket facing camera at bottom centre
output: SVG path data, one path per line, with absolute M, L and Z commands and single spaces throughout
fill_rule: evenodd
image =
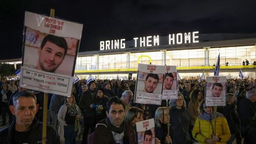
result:
M 107 118 L 101 120 L 95 127 L 92 142 L 97 144 L 123 144 L 125 130 L 124 116 L 125 106 L 118 97 L 112 97 L 107 101 Z

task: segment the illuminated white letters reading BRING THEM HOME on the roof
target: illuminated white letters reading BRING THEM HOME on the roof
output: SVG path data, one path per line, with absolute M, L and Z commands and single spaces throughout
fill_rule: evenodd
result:
M 100 50 L 114 50 L 114 49 L 125 49 L 126 39 L 117 40 L 105 40 L 100 41 Z M 146 36 L 146 37 L 134 37 L 134 47 L 151 47 L 159 46 L 160 40 L 159 35 L 156 36 Z M 187 44 L 187 43 L 199 43 L 199 31 L 193 31 L 188 33 L 177 33 L 169 34 L 168 44 Z

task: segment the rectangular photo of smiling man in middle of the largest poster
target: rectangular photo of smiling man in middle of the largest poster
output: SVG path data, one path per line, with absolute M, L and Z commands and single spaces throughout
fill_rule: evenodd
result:
M 25 27 L 23 66 L 72 76 L 79 40 Z

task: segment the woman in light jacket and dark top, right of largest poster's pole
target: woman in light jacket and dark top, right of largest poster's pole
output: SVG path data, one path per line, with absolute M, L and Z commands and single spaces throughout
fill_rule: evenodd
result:
M 82 119 L 82 116 L 72 94 L 66 98 L 65 104 L 60 107 L 57 119 L 60 123 L 58 131 L 60 142 L 65 144 L 75 143 L 76 136 L 80 135 L 81 132 L 79 119 Z

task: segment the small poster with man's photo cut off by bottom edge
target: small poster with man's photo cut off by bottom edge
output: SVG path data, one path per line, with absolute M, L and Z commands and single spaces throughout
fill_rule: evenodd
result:
M 143 120 L 136 123 L 138 143 L 155 143 L 154 119 Z

